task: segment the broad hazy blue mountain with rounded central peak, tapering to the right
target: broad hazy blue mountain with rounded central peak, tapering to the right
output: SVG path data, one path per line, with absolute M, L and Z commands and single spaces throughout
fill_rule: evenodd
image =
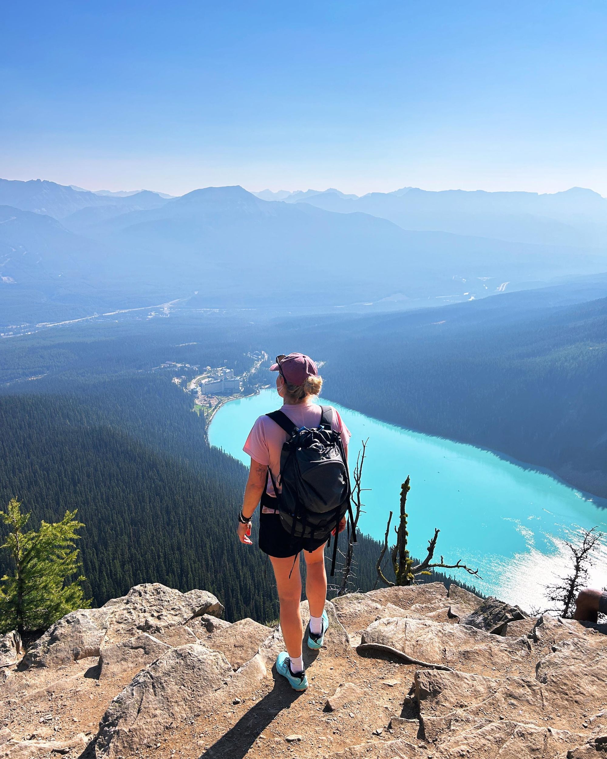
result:
M 121 251 L 119 266 L 146 282 L 241 304 L 291 294 L 333 304 L 395 292 L 480 297 L 503 282 L 607 269 L 605 257 L 583 250 L 404 231 L 362 213 L 261 200 L 242 187 L 206 187 L 92 225 L 88 234 Z

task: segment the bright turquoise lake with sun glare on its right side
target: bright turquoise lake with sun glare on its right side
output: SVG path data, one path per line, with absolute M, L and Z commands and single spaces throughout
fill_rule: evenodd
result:
M 325 403 L 330 401 L 324 400 Z M 360 529 L 383 540 L 388 513 L 398 515 L 401 483 L 407 474 L 410 551 L 425 556 L 434 528 L 440 529 L 436 558 L 462 559 L 480 568 L 482 579 L 451 574 L 528 609 L 544 608 L 544 588 L 568 568 L 564 541 L 583 528 L 607 531 L 607 501 L 584 496 L 549 474 L 522 468 L 497 455 L 366 417 L 338 404 L 352 433 L 349 458 L 356 462 L 360 441 L 369 439 L 363 471 L 365 512 Z M 226 403 L 209 427 L 209 442 L 249 464 L 242 446 L 254 421 L 280 408 L 281 398 L 266 389 Z M 607 584 L 603 545 L 591 572 L 592 584 Z

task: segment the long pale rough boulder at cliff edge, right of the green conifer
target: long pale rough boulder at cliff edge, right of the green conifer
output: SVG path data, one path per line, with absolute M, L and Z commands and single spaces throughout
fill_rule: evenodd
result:
M 203 614 L 221 614 L 223 606 L 207 591 L 180 593 L 159 583 L 135 585 L 100 609 L 78 609 L 62 617 L 27 652 L 27 666 L 65 666 L 99 657 L 102 646 L 159 633 Z

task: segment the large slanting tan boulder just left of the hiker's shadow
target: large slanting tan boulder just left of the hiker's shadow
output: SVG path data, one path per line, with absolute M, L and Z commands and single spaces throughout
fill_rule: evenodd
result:
M 97 757 L 115 759 L 156 746 L 173 723 L 198 716 L 231 678 L 222 653 L 200 644 L 172 648 L 134 677 L 99 723 Z

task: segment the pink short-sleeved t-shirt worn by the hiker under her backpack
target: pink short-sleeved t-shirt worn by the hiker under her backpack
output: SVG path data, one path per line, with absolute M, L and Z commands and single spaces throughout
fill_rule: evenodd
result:
M 313 402 L 297 404 L 285 403 L 282 406 L 281 411 L 283 414 L 286 414 L 297 427 L 318 427 L 322 414 L 320 406 Z M 350 430 L 345 426 L 335 408 L 333 409 L 333 422 L 331 427 L 335 432 L 338 432 L 341 435 L 344 449 L 348 449 Z M 253 461 L 258 461 L 259 464 L 269 466 L 274 475 L 274 479 L 278 480 L 278 474 L 280 472 L 280 452 L 287 437 L 287 433 L 285 433 L 285 430 L 283 430 L 282 427 L 278 427 L 278 424 L 264 415 L 263 417 L 259 417 L 255 424 L 253 424 L 253 429 L 247 437 L 247 442 L 244 443 L 243 450 L 250 455 Z M 268 478 L 266 492 L 269 496 L 274 495 L 271 477 Z

